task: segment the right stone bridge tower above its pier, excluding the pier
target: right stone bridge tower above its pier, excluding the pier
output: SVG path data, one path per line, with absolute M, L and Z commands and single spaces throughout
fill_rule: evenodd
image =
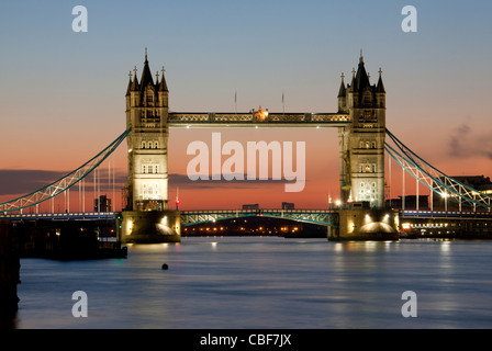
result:
M 371 84 L 360 53 L 350 84 L 344 77 L 338 92 L 338 111 L 353 123 L 338 129 L 340 150 L 342 202 L 368 202 L 371 208 L 384 207 L 385 91 L 379 70 Z

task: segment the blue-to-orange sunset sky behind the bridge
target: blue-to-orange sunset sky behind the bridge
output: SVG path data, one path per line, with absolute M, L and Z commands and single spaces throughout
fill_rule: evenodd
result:
M 71 30 L 76 3 L 0 4 L 0 202 L 34 191 L 89 160 L 125 128 L 128 71 L 166 67 L 170 111 L 337 112 L 340 73 L 364 49 L 371 83 L 381 67 L 387 127 L 449 176 L 492 176 L 492 4 L 412 1 L 416 33 L 404 33 L 403 1 L 85 1 L 87 33 Z M 78 4 L 78 3 L 77 3 Z M 346 79 L 346 82 L 348 79 Z M 306 184 L 187 181 L 193 140 L 305 141 Z M 114 155 L 116 208 L 126 143 Z M 225 159 L 225 157 L 223 158 Z M 392 196 L 401 169 L 392 169 Z M 245 170 L 246 171 L 246 170 Z M 101 180 L 108 173 L 102 165 Z M 338 196 L 335 128 L 170 129 L 169 203 L 180 210 L 258 203 L 326 208 Z M 387 172 L 388 173 L 388 172 Z M 406 194 L 415 193 L 407 176 Z M 89 177 L 88 182 L 92 181 Z M 93 201 L 89 185 L 87 206 Z M 421 194 L 428 193 L 422 191 Z M 112 195 L 111 191 L 103 191 Z M 70 210 L 79 207 L 70 192 Z M 62 203 L 62 204 L 60 204 Z M 58 200 L 57 207 L 63 200 Z M 58 207 L 59 208 L 59 207 Z

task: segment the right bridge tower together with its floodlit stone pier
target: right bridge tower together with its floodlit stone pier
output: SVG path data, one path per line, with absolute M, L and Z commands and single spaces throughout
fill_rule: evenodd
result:
M 362 50 L 350 84 L 342 76 L 338 112 L 349 114 L 351 124 L 338 128 L 343 208 L 328 239 L 398 240 L 399 214 L 384 210 L 385 90 L 381 69 L 370 83 Z

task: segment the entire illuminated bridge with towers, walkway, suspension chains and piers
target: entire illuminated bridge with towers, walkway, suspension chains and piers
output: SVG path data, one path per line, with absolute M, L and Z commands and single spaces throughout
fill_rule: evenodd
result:
M 385 127 L 385 89 L 382 71 L 377 83 L 371 83 L 362 55 L 358 69 L 353 69 L 351 80 L 342 81 L 338 90 L 337 112 L 326 113 L 270 113 L 268 110 L 250 112 L 170 112 L 169 90 L 165 70 L 150 73 L 147 53 L 142 75 L 137 68 L 130 72 L 125 94 L 126 129 L 104 150 L 77 170 L 27 195 L 0 204 L 0 218 L 35 219 L 49 217 L 65 220 L 100 220 L 97 213 L 55 214 L 53 199 L 65 194 L 76 184 L 83 191 L 83 180 L 107 159 L 118 146 L 127 143 L 127 182 L 125 204 L 121 213 L 119 238 L 122 242 L 178 242 L 181 226 L 214 222 L 241 216 L 265 215 L 310 222 L 327 227 L 331 240 L 396 240 L 402 220 L 414 224 L 428 220 L 425 216 L 439 216 L 437 212 L 405 212 L 387 210 L 385 163 L 389 155 L 432 194 L 446 196 L 472 207 L 472 218 L 480 219 L 480 211 L 490 215 L 491 196 L 446 176 L 415 155 Z M 339 146 L 340 205 L 327 210 L 261 210 L 255 211 L 171 211 L 168 195 L 168 138 L 170 128 L 337 128 Z M 387 138 L 388 137 L 388 138 Z M 81 186 L 82 185 L 82 186 Z M 403 194 L 404 195 L 404 194 Z M 38 205 L 52 201 L 51 214 L 38 214 Z M 418 201 L 417 201 L 418 203 Z M 35 207 L 35 214 L 23 214 Z M 20 213 L 19 213 L 20 212 Z M 107 219 L 120 220 L 119 213 Z M 459 211 L 447 212 L 447 217 L 469 218 Z M 431 218 L 431 219 L 433 219 Z M 489 217 L 487 217 L 489 220 Z

